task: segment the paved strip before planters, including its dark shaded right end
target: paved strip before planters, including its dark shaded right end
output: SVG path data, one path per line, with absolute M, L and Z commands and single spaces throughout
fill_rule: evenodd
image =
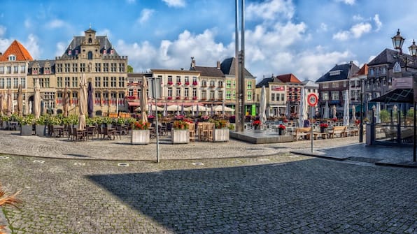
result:
M 229 142 L 190 142 L 172 145 L 169 136 L 160 139 L 160 159 L 219 159 L 247 156 L 269 156 L 285 152 L 329 159 L 353 160 L 377 165 L 417 168 L 412 147 L 372 147 L 358 143 L 358 136 L 251 144 L 231 139 Z M 20 136 L 17 131 L 0 131 L 0 153 L 56 159 L 146 160 L 156 159 L 156 140 L 149 145 L 131 145 L 130 136 L 117 140 L 71 141 L 67 138 Z

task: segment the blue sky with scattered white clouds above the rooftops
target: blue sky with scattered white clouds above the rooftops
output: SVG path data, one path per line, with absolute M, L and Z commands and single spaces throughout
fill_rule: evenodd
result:
M 54 59 L 92 26 L 135 72 L 215 66 L 234 56 L 233 0 L 1 0 L 0 52 L 20 41 L 34 59 Z M 334 64 L 362 66 L 397 29 L 404 52 L 417 38 L 417 1 L 246 0 L 246 68 L 317 80 Z

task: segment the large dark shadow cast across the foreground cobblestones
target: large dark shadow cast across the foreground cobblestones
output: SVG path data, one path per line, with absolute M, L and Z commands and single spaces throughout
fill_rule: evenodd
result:
M 291 233 L 301 226 L 304 233 L 322 233 L 342 225 L 356 231 L 353 226 L 390 216 L 398 200 L 413 203 L 415 190 L 412 196 L 404 188 L 416 173 L 381 184 L 392 170 L 309 159 L 87 178 L 174 233 Z M 397 212 L 413 217 L 414 208 Z

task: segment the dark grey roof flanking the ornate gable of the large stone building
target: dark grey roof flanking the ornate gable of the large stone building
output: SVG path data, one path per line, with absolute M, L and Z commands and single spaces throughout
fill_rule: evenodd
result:
M 113 48 L 113 45 L 108 41 L 107 36 L 96 36 L 96 39 L 100 43 L 100 53 L 103 53 L 103 50 L 106 50 L 106 56 L 115 56 L 118 57 L 118 52 Z M 71 50 L 71 56 L 76 56 L 76 51 L 80 53 L 80 45 L 85 41 L 85 36 L 74 36 L 71 43 L 69 43 L 68 47 L 64 54 L 62 54 L 63 59 L 68 59 L 70 56 L 68 55 L 69 50 Z M 113 49 L 113 54 L 111 54 L 111 50 Z

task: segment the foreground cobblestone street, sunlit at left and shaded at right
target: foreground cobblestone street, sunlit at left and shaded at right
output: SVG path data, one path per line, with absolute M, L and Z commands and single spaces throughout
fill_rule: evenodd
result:
M 7 156 L 6 156 L 7 157 Z M 126 164 L 118 163 L 129 163 Z M 417 233 L 417 170 L 295 154 L 0 159 L 13 233 Z

